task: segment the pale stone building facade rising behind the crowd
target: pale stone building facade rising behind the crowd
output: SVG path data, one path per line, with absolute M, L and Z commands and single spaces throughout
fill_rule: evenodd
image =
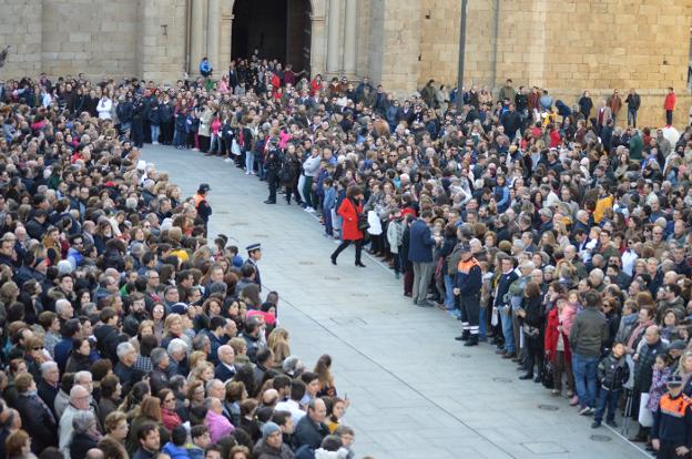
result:
M 262 1 L 4 0 L 0 47 L 12 48 L 0 76 L 84 72 L 173 82 L 195 74 L 203 55 L 217 72 L 227 69 L 234 40 L 245 40 L 261 53 L 262 43 L 283 41 L 282 61 L 299 60 L 313 75 L 368 75 L 398 96 L 429 79 L 456 85 L 459 0 L 272 0 L 264 14 L 286 24 L 253 37 L 238 33 L 257 32 L 268 17 L 261 8 L 241 16 L 242 2 Z M 692 0 L 468 4 L 467 85 L 498 89 L 512 78 L 568 104 L 584 89 L 596 101 L 614 88 L 637 88 L 647 124 L 662 122 L 665 88 L 673 86 L 675 124 L 686 123 Z

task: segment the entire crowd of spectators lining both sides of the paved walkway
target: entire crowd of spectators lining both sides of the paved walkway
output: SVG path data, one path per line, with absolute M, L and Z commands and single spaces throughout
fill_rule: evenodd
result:
M 342 241 L 333 264 L 353 243 L 365 267 L 367 249 L 593 428 L 623 410 L 632 440 L 689 455 L 692 129 L 671 126 L 673 89 L 665 126 L 640 129 L 635 90 L 564 102 L 430 81 L 399 101 L 256 57 L 205 69 L 171 88 L 0 88 L 9 457 L 353 456 L 329 357 L 306 370 L 278 295 L 262 298 L 261 247 L 245 261 L 207 239 L 210 186 L 181 196 L 141 160 L 149 142 L 256 175 L 266 204 Z

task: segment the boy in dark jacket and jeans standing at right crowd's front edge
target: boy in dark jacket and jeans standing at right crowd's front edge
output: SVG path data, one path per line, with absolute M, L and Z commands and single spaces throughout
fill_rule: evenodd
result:
M 624 346 L 622 343 L 615 343 L 610 355 L 603 357 L 598 366 L 598 379 L 601 382 L 601 392 L 599 395 L 598 408 L 593 415 L 593 424 L 591 428 L 601 427 L 606 407 L 608 407 L 608 416 L 606 424 L 611 427 L 618 427 L 615 424 L 615 409 L 618 400 L 622 394 L 622 386 L 630 379 L 630 367 L 625 359 Z

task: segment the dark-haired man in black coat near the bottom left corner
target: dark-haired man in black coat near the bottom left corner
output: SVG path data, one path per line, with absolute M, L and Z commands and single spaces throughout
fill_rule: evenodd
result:
M 58 424 L 50 408 L 37 394 L 37 385 L 31 374 L 24 373 L 14 379 L 19 394 L 17 410 L 22 418 L 22 428 L 31 437 L 31 451 L 40 453 L 48 447 L 58 446 Z

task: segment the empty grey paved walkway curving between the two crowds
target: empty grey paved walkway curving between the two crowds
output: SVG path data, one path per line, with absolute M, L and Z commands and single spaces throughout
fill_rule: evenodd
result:
M 258 242 L 263 292 L 281 294 L 278 318 L 307 366 L 333 358 L 339 396 L 352 407 L 356 457 L 376 459 L 638 458 L 619 431 L 591 429 L 566 399 L 520 381 L 488 345 L 452 338 L 458 322 L 419 308 L 400 280 L 370 257 L 354 266 L 348 248 L 333 266 L 333 239 L 295 205 L 265 205 L 267 188 L 233 164 L 201 153 L 146 146 L 144 160 L 171 174 L 183 195 L 212 187 L 211 235 L 241 249 Z M 266 290 L 265 290 L 266 289 Z

